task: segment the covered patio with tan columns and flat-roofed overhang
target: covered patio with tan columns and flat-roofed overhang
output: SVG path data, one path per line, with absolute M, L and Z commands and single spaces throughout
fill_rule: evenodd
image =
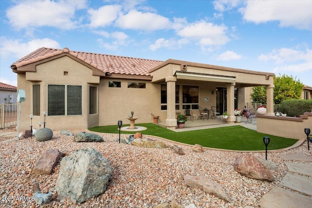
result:
M 267 114 L 273 112 L 273 73 L 200 64 L 168 59 L 152 68 L 152 83 L 161 85 L 161 122 L 167 129 L 176 129 L 177 113 L 185 109 L 195 111 L 198 108 L 211 109 L 222 115 L 227 112 L 227 122 L 235 122 L 234 110 L 243 109 L 245 105 L 245 87 L 266 86 Z M 166 123 L 164 124 L 164 119 Z M 192 123 L 192 124 L 191 124 Z M 188 121 L 191 126 L 209 126 L 222 124 L 222 119 L 208 121 Z

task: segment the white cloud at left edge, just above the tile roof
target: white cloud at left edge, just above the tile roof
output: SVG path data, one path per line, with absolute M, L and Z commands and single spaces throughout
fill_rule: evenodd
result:
M 22 42 L 19 39 L 1 37 L 1 59 L 12 56 L 19 59 L 41 47 L 60 48 L 60 45 L 57 41 L 50 38 L 33 39 L 28 42 Z

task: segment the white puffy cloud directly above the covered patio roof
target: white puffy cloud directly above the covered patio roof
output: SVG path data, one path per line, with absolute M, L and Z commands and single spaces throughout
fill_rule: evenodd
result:
M 202 46 L 224 45 L 230 38 L 226 36 L 225 25 L 215 25 L 211 22 L 195 22 L 184 27 L 177 34 L 184 38 L 198 40 Z

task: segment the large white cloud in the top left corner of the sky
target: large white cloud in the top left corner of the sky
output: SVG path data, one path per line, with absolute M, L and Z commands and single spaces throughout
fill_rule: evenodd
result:
M 6 11 L 9 23 L 15 29 L 51 26 L 60 29 L 72 29 L 78 24 L 72 21 L 75 11 L 86 7 L 85 0 L 70 1 L 15 1 L 18 4 Z

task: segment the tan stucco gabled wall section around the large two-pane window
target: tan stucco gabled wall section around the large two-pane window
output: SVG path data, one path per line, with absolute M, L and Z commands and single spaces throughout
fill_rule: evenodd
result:
M 68 72 L 65 76 L 64 72 Z M 26 72 L 18 74 L 18 88 L 24 89 L 26 101 L 22 102 L 20 116 L 20 130 L 30 129 L 29 114 L 32 113 L 32 85 L 40 84 L 40 116 L 34 116 L 33 126 L 39 129 L 39 121 L 43 122 L 43 112 L 47 111 L 47 91 L 48 84 L 68 84 L 82 86 L 82 115 L 71 116 L 46 116 L 46 127 L 52 130 L 61 129 L 81 129 L 97 124 L 97 120 L 88 122 L 89 117 L 89 86 L 97 86 L 98 76 L 92 76 L 92 70 L 74 61 L 69 57 L 42 63 L 36 66 L 36 72 Z M 97 115 L 90 115 L 97 117 Z M 43 125 L 41 126 L 41 128 Z

